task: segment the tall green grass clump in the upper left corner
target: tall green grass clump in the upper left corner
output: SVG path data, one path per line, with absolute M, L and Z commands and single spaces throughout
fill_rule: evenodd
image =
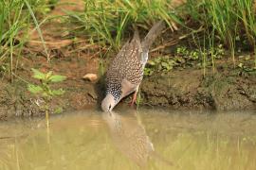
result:
M 12 73 L 19 67 L 21 50 L 27 41 L 29 26 L 35 25 L 44 42 L 38 21 L 47 12 L 47 1 L 0 1 L 0 73 L 7 73 L 12 80 Z M 46 49 L 46 46 L 45 46 Z M 47 54 L 47 53 L 46 53 Z

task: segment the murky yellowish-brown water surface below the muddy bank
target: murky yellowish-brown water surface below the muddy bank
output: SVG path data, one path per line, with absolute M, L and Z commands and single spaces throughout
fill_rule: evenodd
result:
M 254 111 L 83 110 L 0 125 L 1 170 L 256 169 Z

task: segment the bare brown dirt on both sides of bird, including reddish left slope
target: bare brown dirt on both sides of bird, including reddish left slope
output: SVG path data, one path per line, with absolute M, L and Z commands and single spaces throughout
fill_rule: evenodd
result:
M 79 0 L 75 2 L 81 3 Z M 60 6 L 52 13 L 63 15 L 63 9 L 82 10 Z M 27 92 L 25 81 L 35 82 L 31 78 L 31 68 L 67 76 L 64 82 L 56 85 L 62 87 L 65 93 L 55 98 L 52 106 L 59 105 L 64 110 L 82 110 L 99 106 L 101 102 L 104 82 L 100 62 L 106 66 L 104 63 L 108 60 L 101 60 L 100 48 L 86 39 L 70 40 L 67 31 L 70 26 L 58 19 L 47 22 L 41 28 L 51 61 L 47 62 L 37 32 L 31 31 L 14 82 L 10 84 L 9 77 L 0 82 L 0 120 L 44 114 L 39 110 L 39 99 Z M 220 65 L 214 74 L 209 69 L 206 77 L 202 70 L 195 68 L 147 76 L 140 88 L 141 105 L 174 109 L 255 110 L 256 75 L 224 68 Z M 85 74 L 97 74 L 99 78 L 90 82 L 82 78 Z M 129 99 L 127 97 L 124 102 Z

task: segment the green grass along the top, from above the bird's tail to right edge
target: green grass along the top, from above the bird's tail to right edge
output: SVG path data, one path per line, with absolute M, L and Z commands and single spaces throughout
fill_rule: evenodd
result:
M 173 30 L 179 25 L 192 34 L 203 27 L 199 32 L 203 32 L 203 37 L 193 38 L 193 42 L 202 56 L 204 75 L 207 58 L 211 60 L 213 72 L 216 65 L 215 56 L 205 55 L 205 52 L 213 54 L 219 44 L 224 44 L 229 51 L 234 68 L 239 64 L 237 51 L 256 51 L 256 18 L 251 0 L 188 0 L 179 8 L 173 8 L 172 0 L 118 0 L 114 3 L 84 0 L 84 6 L 83 12 L 68 13 L 71 20 L 77 22 L 82 34 L 88 35 L 91 42 L 108 51 L 109 48 L 119 51 L 123 42 L 132 37 L 134 24 L 143 34 L 157 20 L 164 20 Z M 184 16 L 192 18 L 191 27 L 186 25 Z M 256 68 L 256 55 L 252 62 L 251 67 Z

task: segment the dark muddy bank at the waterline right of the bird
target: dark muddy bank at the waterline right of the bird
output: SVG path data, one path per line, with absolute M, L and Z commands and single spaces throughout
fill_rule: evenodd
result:
M 233 71 L 204 77 L 200 70 L 146 77 L 142 103 L 178 108 L 247 110 L 256 108 L 256 76 Z

